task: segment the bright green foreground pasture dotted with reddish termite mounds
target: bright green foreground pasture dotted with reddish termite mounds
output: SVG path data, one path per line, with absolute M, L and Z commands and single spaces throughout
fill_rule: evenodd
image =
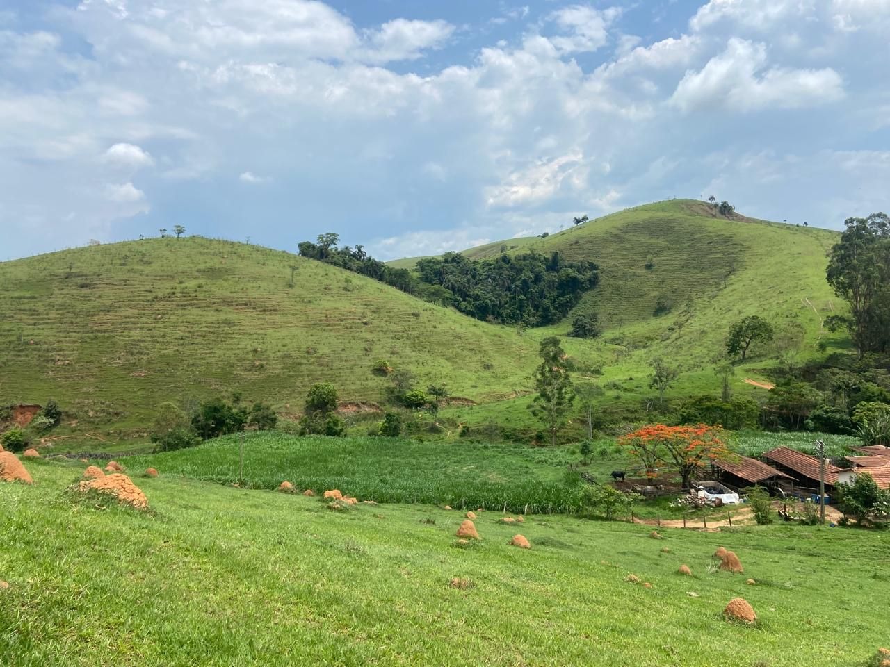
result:
M 80 469 L 0 485 L 0 663 L 44 665 L 860 665 L 886 642 L 890 535 L 800 526 L 669 531 L 137 478 L 153 512 L 63 494 Z M 434 523 L 428 523 L 434 521 Z M 708 573 L 735 550 L 745 575 Z M 662 552 L 663 548 L 670 550 Z M 676 575 L 689 564 L 693 578 Z M 855 573 L 855 585 L 850 575 Z M 634 573 L 651 590 L 624 582 Z M 449 588 L 451 577 L 474 585 Z M 751 576 L 756 586 L 744 585 Z M 700 597 L 692 598 L 687 591 Z M 755 627 L 726 623 L 744 596 Z

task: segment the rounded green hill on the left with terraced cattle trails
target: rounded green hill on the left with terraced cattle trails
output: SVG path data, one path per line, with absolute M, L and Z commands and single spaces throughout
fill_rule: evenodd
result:
M 295 266 L 293 287 L 291 266 Z M 59 400 L 81 430 L 140 430 L 165 400 L 240 390 L 296 412 L 312 382 L 378 400 L 377 359 L 473 399 L 535 343 L 290 253 L 163 238 L 0 264 L 0 405 Z

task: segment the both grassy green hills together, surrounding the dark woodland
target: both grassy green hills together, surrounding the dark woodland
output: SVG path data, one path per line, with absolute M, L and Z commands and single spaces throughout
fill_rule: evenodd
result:
M 454 412 L 466 422 L 525 410 L 538 342 L 568 332 L 578 312 L 603 322 L 595 341 L 565 347 L 606 391 L 603 406 L 651 397 L 649 362 L 662 356 L 683 376 L 669 392 L 712 392 L 712 367 L 732 321 L 759 314 L 805 332 L 801 359 L 848 345 L 822 319 L 845 304 L 825 281 L 837 234 L 741 215 L 731 220 L 690 200 L 638 206 L 544 239 L 512 239 L 466 253 L 559 251 L 593 260 L 601 282 L 562 323 L 489 325 L 387 285 L 291 253 L 200 237 L 101 245 L 0 263 L 0 405 L 53 397 L 77 424 L 75 438 L 138 438 L 159 403 L 240 390 L 282 414 L 306 389 L 332 382 L 341 398 L 378 401 L 388 382 L 378 359 L 485 406 Z M 293 285 L 291 275 L 293 272 Z M 667 309 L 657 312 L 657 306 Z M 758 351 L 734 381 L 774 362 Z M 452 414 L 452 413 L 449 413 Z M 62 441 L 64 442 L 64 441 Z M 87 446 L 79 446 L 83 450 Z

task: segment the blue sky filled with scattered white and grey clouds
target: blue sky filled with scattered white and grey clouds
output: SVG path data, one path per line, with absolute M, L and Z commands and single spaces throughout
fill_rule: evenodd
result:
M 7 0 L 0 260 L 189 233 L 381 259 L 667 197 L 890 208 L 890 0 Z

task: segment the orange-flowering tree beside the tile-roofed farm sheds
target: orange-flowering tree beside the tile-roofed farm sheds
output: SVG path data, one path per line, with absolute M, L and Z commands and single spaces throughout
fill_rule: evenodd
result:
M 683 479 L 683 487 L 689 488 L 692 473 L 716 459 L 732 455 L 723 439 L 720 426 L 665 426 L 655 424 L 628 433 L 619 438 L 619 445 L 627 447 L 627 453 L 639 459 L 647 478 L 654 478 L 656 469 L 667 465 Z

